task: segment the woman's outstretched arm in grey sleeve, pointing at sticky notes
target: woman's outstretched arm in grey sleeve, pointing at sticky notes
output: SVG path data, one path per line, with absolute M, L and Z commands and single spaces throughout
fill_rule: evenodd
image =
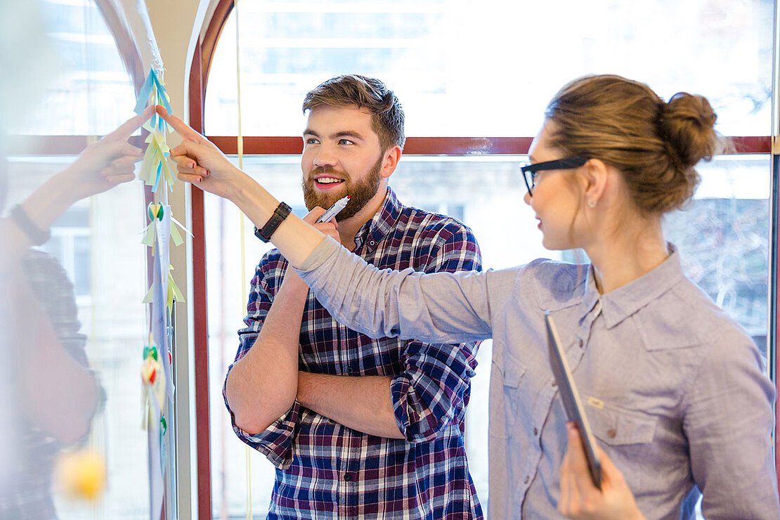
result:
M 278 200 L 225 154 L 181 119 L 158 113 L 183 142 L 171 149 L 179 179 L 231 200 L 257 228 L 278 207 Z M 338 242 L 290 214 L 271 242 L 302 274 L 317 298 L 343 324 L 374 338 L 400 336 L 434 343 L 479 341 L 491 336 L 488 281 L 482 274 L 421 274 L 412 270 L 377 271 Z M 316 250 L 316 253 L 315 253 Z M 314 254 L 313 254 L 314 253 Z M 514 274 L 492 277 L 494 286 L 513 284 Z

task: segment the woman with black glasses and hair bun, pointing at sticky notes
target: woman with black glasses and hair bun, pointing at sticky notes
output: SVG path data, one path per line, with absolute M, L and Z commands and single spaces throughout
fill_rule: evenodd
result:
M 180 178 L 226 196 L 342 324 L 374 337 L 493 338 L 491 518 L 780 518 L 771 382 L 753 341 L 688 280 L 661 217 L 718 153 L 704 97 L 668 102 L 619 76 L 567 84 L 523 168 L 548 249 L 484 273 L 378 271 L 298 218 L 176 118 Z M 276 210 L 275 210 L 276 209 Z M 283 207 L 282 207 L 283 209 Z M 599 444 L 594 486 L 551 372 L 545 313 Z

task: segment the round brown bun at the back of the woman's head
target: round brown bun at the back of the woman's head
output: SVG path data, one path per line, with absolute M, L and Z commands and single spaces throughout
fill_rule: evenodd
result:
M 703 96 L 678 92 L 663 104 L 658 134 L 668 145 L 672 162 L 686 169 L 718 154 L 722 143 L 714 129 L 716 119 L 718 116 Z

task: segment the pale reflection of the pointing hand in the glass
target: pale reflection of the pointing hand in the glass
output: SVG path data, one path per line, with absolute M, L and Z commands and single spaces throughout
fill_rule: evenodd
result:
M 136 178 L 133 170 L 137 161 L 143 158 L 143 150 L 127 140 L 152 114 L 154 107 L 149 106 L 141 115 L 128 119 L 118 129 L 85 148 L 62 172 L 68 189 L 73 190 L 70 203 Z

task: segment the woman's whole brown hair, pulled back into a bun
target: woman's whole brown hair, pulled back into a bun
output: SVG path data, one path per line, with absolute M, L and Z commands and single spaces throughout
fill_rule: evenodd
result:
M 544 113 L 552 147 L 617 168 L 646 214 L 675 210 L 693 196 L 695 165 L 727 143 L 714 130 L 707 98 L 680 92 L 667 102 L 644 83 L 584 76 L 555 94 Z

